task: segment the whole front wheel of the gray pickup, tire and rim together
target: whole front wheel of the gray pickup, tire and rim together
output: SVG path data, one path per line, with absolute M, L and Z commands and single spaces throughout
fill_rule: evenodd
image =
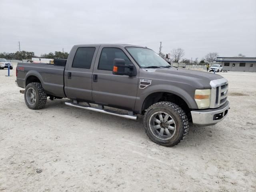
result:
M 174 146 L 188 133 L 188 118 L 178 105 L 158 102 L 146 110 L 144 126 L 146 134 L 153 142 Z

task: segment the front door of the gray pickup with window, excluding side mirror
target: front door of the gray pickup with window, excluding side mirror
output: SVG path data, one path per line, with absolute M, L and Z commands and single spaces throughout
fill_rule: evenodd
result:
M 132 58 L 123 47 L 100 46 L 97 55 L 92 81 L 92 98 L 94 102 L 106 106 L 114 106 L 127 110 L 134 110 L 137 86 L 137 76 L 113 75 L 113 60 L 121 58 L 125 64 L 134 65 Z

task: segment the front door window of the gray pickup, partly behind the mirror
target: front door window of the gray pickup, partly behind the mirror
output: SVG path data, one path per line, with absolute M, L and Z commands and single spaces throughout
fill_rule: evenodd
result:
M 99 70 L 113 70 L 114 59 L 124 59 L 125 64 L 129 65 L 130 59 L 126 54 L 119 48 L 103 48 L 100 54 L 100 61 L 98 64 Z

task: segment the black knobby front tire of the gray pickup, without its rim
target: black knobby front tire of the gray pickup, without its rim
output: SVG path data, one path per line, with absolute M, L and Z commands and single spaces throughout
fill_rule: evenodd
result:
M 172 116 L 172 119 L 176 124 L 176 132 L 172 136 L 172 138 L 168 140 L 159 139 L 150 130 L 150 117 L 156 112 L 166 112 Z M 172 102 L 158 102 L 150 106 L 144 114 L 143 123 L 146 134 L 148 135 L 150 140 L 163 146 L 174 146 L 179 144 L 188 133 L 188 118 L 184 110 L 182 110 L 182 108 Z

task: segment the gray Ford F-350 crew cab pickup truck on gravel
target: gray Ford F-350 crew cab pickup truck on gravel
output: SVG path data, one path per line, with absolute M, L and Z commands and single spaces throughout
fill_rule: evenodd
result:
M 25 88 L 28 108 L 44 108 L 47 97 L 69 98 L 73 107 L 133 120 L 141 114 L 148 137 L 164 146 L 181 142 L 189 122 L 214 125 L 229 110 L 225 78 L 173 68 L 146 47 L 75 45 L 67 60 L 54 63 L 18 63 L 16 84 Z

